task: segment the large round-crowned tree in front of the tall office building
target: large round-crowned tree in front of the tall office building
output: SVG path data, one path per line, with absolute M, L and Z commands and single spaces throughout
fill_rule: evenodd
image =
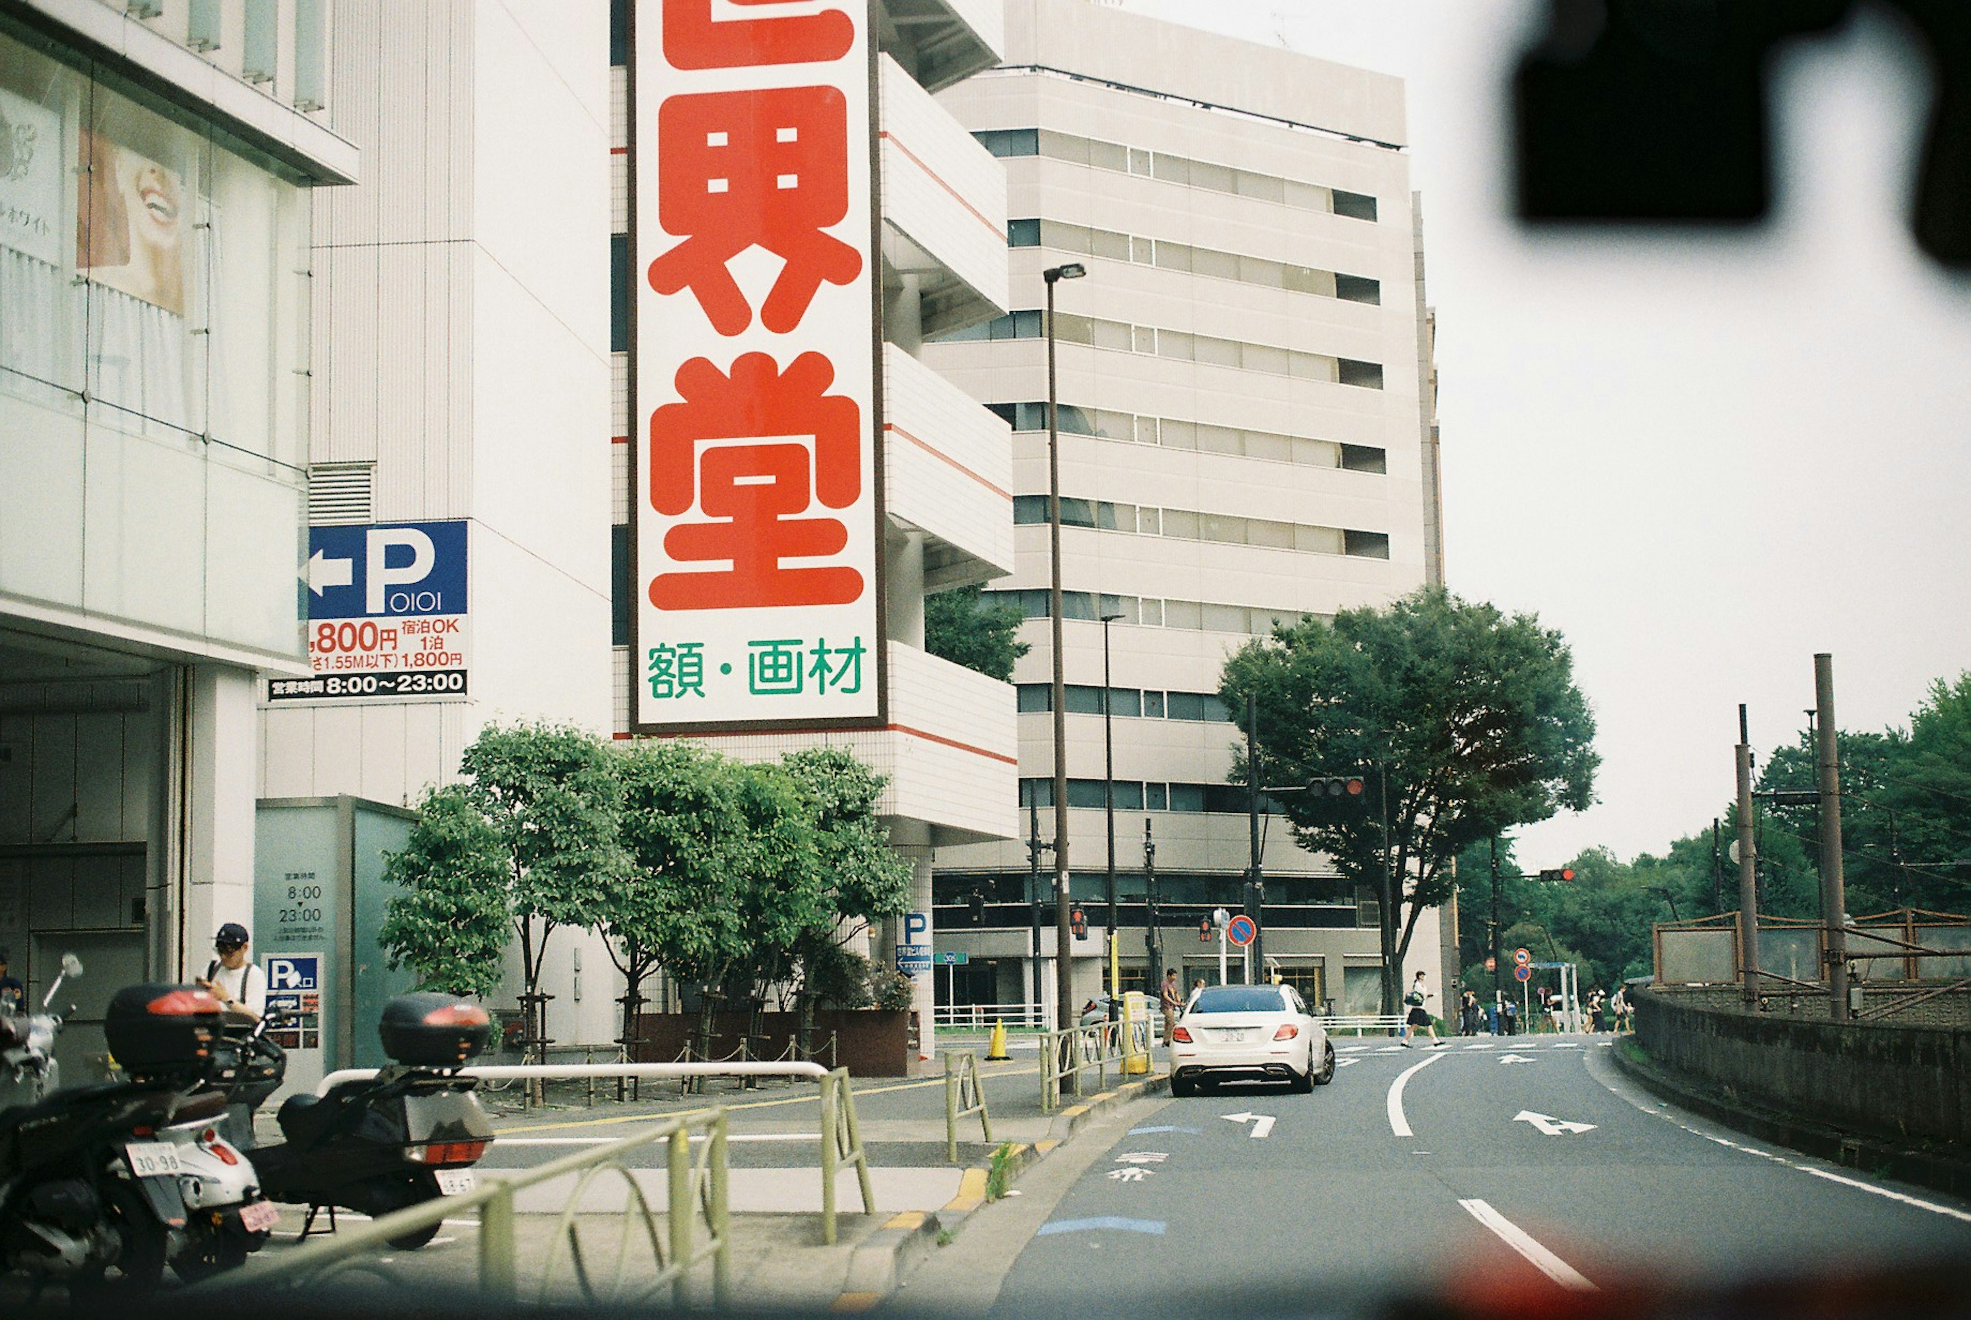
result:
M 1425 589 L 1332 623 L 1305 619 L 1232 656 L 1220 695 L 1244 711 L 1248 693 L 1267 786 L 1368 776 L 1366 804 L 1279 800 L 1301 847 L 1380 896 L 1386 1013 L 1417 918 L 1451 896 L 1451 859 L 1593 802 L 1595 717 L 1565 640 L 1531 615 Z

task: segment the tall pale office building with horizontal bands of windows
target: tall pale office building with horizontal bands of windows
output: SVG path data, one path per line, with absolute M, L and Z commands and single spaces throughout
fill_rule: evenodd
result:
M 1161 961 L 1187 983 L 1218 975 L 1200 918 L 1248 908 L 1269 971 L 1376 1011 L 1372 894 L 1342 887 L 1277 818 L 1263 822 L 1263 904 L 1248 892 L 1246 792 L 1226 784 L 1240 731 L 1216 692 L 1224 658 L 1273 621 L 1443 581 L 1401 83 L 1086 0 L 1009 0 L 1005 16 L 1003 65 L 940 100 L 1007 169 L 1013 307 L 922 357 L 1015 431 L 1017 563 L 987 599 L 1029 619 L 1021 833 L 1031 812 L 1047 845 L 1043 270 L 1086 266 L 1056 286 L 1070 896 L 1090 928 L 1070 950 L 1076 997 L 1104 983 L 1108 627 L 1125 985 L 1147 965 L 1149 839 Z M 1033 942 L 1051 963 L 1054 863 L 1031 863 L 1027 839 L 938 855 L 940 938 L 968 954 L 940 999 L 1019 1005 L 1037 983 L 1053 999 Z M 1437 916 L 1407 963 L 1443 987 Z

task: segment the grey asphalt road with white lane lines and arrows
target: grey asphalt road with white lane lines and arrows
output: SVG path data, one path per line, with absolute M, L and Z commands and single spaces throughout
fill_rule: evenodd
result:
M 1608 1048 L 1340 1040 L 1311 1095 L 1137 1107 L 1019 1249 L 993 1314 L 1360 1312 L 1397 1290 L 1723 1287 L 1971 1253 L 1965 1202 L 1667 1109 Z

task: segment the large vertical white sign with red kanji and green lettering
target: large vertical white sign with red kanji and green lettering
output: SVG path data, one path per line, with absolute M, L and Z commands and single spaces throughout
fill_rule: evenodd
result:
M 863 0 L 639 0 L 637 719 L 881 717 Z

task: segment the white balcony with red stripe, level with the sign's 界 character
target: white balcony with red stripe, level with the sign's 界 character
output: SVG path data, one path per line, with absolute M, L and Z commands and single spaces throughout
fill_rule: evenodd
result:
M 924 335 L 1001 315 L 1005 169 L 895 59 L 881 63 L 883 260 L 915 280 Z

